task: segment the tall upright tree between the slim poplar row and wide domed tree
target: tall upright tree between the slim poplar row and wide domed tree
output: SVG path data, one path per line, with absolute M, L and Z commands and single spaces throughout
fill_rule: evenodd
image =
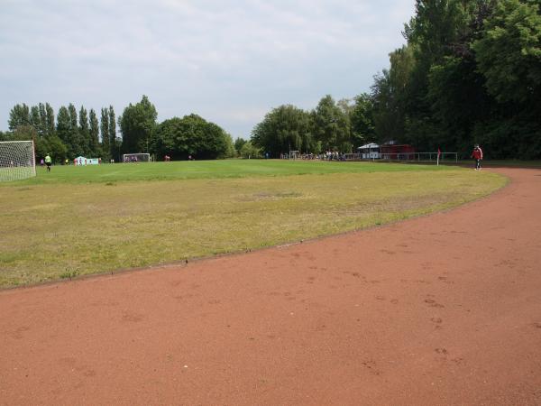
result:
M 157 117 L 156 107 L 146 96 L 143 96 L 139 103 L 130 103 L 124 108 L 122 116 L 119 117 L 124 152 L 149 152 Z

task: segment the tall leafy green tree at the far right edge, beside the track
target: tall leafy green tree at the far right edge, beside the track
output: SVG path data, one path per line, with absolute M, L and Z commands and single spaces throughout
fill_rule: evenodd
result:
M 541 158 L 541 5 L 499 0 L 472 42 L 478 72 L 495 103 L 473 138 L 495 158 Z

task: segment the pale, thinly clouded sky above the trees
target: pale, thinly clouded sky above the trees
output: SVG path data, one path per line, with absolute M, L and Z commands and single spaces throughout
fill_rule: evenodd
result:
M 272 108 L 369 92 L 414 0 L 0 0 L 0 130 L 16 104 L 55 114 L 149 97 L 249 139 Z

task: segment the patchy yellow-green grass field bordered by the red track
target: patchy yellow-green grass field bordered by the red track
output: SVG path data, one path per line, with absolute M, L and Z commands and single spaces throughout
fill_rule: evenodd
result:
M 381 225 L 490 194 L 454 167 L 181 161 L 38 168 L 0 183 L 0 287 L 171 263 Z

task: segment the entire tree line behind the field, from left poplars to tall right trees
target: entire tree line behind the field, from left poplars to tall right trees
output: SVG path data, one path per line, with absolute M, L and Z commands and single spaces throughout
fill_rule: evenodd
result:
M 215 159 L 300 152 L 353 152 L 363 143 L 409 143 L 419 152 L 458 152 L 480 143 L 492 159 L 541 158 L 541 6 L 539 0 L 416 0 L 404 24 L 406 45 L 369 93 L 312 110 L 282 105 L 252 129 L 249 141 L 198 115 L 158 124 L 148 97 L 96 112 L 70 104 L 55 115 L 45 103 L 17 105 L 0 141 L 33 139 L 55 160 L 149 152 L 161 159 Z M 122 137 L 117 136 L 116 124 Z

